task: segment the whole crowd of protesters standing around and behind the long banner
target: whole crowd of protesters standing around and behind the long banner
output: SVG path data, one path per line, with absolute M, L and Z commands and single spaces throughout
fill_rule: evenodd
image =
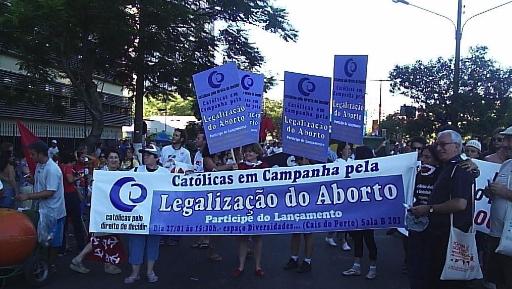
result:
M 410 212 L 416 216 L 428 216 L 429 226 L 423 231 L 410 231 L 403 236 L 405 260 L 402 273 L 408 274 L 411 288 L 466 288 L 464 281 L 443 281 L 440 274 L 444 266 L 444 257 L 450 235 L 450 214 L 454 215 L 454 226 L 467 232 L 473 225 L 474 196 L 472 184 L 480 171 L 473 159 L 486 160 L 502 164 L 498 178 L 489 183 L 485 194 L 492 199 L 490 212 L 489 234 L 479 233 L 478 247 L 481 253 L 480 262 L 484 268 L 485 285 L 497 289 L 512 288 L 512 258 L 496 253 L 503 230 L 505 211 L 512 201 L 512 127 L 500 128 L 492 132 L 489 142 L 483 142 L 481 136 L 474 136 L 465 143 L 456 128 L 442 129 L 434 143 L 428 144 L 421 136 L 412 137 L 409 141 L 397 143 L 388 140 L 382 142 L 374 150 L 366 146 L 354 147 L 350 143 L 337 143 L 337 150 L 330 151 L 330 162 L 344 162 L 376 157 L 388 143 L 391 148 L 387 155 L 414 153 L 418 155 L 421 165 L 418 168 L 414 190 L 414 203 Z M 59 149 L 57 141 L 50 146 L 37 141 L 30 146 L 31 158 L 37 163 L 36 175 L 32 176 L 27 160 L 23 155 L 15 155 L 15 148 L 10 143 L 2 144 L 0 153 L 0 177 L 3 189 L 0 191 L 0 207 L 47 209 L 57 219 L 52 230 L 54 239 L 49 244 L 50 262 L 54 264 L 57 256 L 63 256 L 73 250 L 67 239 L 68 224 L 72 226 L 76 240 L 78 255 L 71 261 L 70 268 L 80 273 L 88 273 L 83 264 L 95 252 L 100 240 L 108 240 L 114 244 L 115 256 L 118 258 L 103 259 L 104 271 L 108 274 L 120 274 L 116 264 L 123 261 L 124 248 L 121 236 L 112 234 L 89 234 L 83 219 L 90 205 L 91 181 L 95 170 L 131 171 L 150 173 L 185 173 L 215 172 L 227 170 L 251 170 L 267 168 L 265 156 L 283 152 L 280 141 L 272 143 L 253 143 L 242 148 L 233 148 L 225 152 L 212 154 L 204 132 L 199 132 L 196 139 L 196 150 L 185 148 L 188 138 L 185 130 L 177 129 L 168 146 L 159 147 L 148 144 L 138 152 L 134 151 L 129 141 L 122 141 L 119 147 L 105 149 L 98 144 L 90 154 L 86 146 L 69 151 Z M 19 149 L 19 148 L 16 148 Z M 137 153 L 142 156 L 138 159 Z M 57 164 L 58 163 L 58 164 Z M 317 164 L 318 161 L 302 156 L 295 156 L 298 165 Z M 46 170 L 42 170 L 48 168 Z M 51 172 L 51 174 L 49 173 Z M 421 189 L 420 189 L 421 188 Z M 33 201 L 36 200 L 36 201 Z M 36 208 L 37 207 L 37 208 Z M 390 234 L 396 231 L 390 231 Z M 354 262 L 351 268 L 343 271 L 344 276 L 361 275 L 361 258 L 364 245 L 369 251 L 370 267 L 366 279 L 377 277 L 377 242 L 374 230 L 355 230 L 350 232 L 330 232 L 325 241 L 337 246 L 334 235 L 338 237 L 345 251 L 354 249 Z M 301 265 L 298 262 L 301 235 L 305 240 L 305 258 Z M 348 237 L 352 238 L 352 247 Z M 254 255 L 254 273 L 265 276 L 262 269 L 262 243 L 264 236 L 238 236 L 239 266 L 233 271 L 233 277 L 245 272 L 248 255 Z M 155 273 L 155 262 L 159 255 L 159 246 L 176 245 L 179 236 L 127 236 L 129 248 L 127 260 L 132 265 L 132 272 L 124 279 L 124 283 L 133 283 L 140 277 L 140 267 L 144 256 L 147 260 L 146 279 L 158 281 Z M 249 249 L 252 240 L 253 249 Z M 198 236 L 192 248 L 209 249 L 208 259 L 222 261 L 218 248 L 222 245 L 220 236 Z M 114 254 L 111 254 L 113 256 Z M 283 268 L 296 269 L 298 273 L 311 271 L 313 255 L 312 233 L 291 235 L 291 257 Z M 54 270 L 52 265 L 52 269 Z

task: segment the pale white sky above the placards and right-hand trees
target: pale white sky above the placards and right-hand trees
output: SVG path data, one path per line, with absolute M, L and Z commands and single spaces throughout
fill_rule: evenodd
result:
M 410 0 L 411 4 L 445 15 L 457 23 L 457 0 Z M 465 19 L 506 0 L 464 0 Z M 455 54 L 455 28 L 440 16 L 392 0 L 275 0 L 285 7 L 299 30 L 297 43 L 285 43 L 260 29 L 251 41 L 267 57 L 265 69 L 278 79 L 284 71 L 332 77 L 334 55 L 369 55 L 367 79 L 386 79 L 396 64 L 412 64 Z M 313 5 L 311 5 L 313 4 Z M 504 67 L 512 66 L 512 3 L 469 20 L 464 27 L 461 55 L 468 47 L 484 45 Z M 284 85 L 266 94 L 283 98 Z M 379 82 L 368 81 L 368 121 L 378 118 Z M 382 119 L 399 110 L 406 97 L 392 96 L 382 84 Z

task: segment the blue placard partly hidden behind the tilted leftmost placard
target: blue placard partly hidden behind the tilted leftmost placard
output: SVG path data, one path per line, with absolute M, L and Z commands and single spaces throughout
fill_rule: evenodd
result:
M 245 108 L 249 115 L 250 142 L 258 142 L 260 138 L 261 106 L 263 102 L 263 74 L 239 70 L 240 86 L 243 91 Z

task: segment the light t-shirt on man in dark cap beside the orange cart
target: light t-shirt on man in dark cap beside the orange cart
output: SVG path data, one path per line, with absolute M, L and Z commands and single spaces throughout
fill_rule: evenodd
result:
M 52 159 L 46 163 L 38 163 L 35 168 L 34 192 L 41 191 L 54 191 L 54 193 L 51 197 L 39 199 L 39 213 L 55 219 L 65 217 L 62 171 Z

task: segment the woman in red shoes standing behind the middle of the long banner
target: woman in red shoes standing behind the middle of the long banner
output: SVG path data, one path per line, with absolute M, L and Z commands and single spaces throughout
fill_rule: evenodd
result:
M 253 170 L 253 169 L 265 169 L 268 165 L 261 161 L 263 157 L 263 150 L 259 143 L 247 144 L 242 147 L 242 152 L 245 157 L 244 162 L 238 164 L 239 170 Z M 247 244 L 249 242 L 248 235 L 238 236 L 238 269 L 233 272 L 233 277 L 238 277 L 244 273 L 245 259 L 247 258 Z M 263 249 L 262 235 L 252 235 L 254 242 L 254 260 L 255 260 L 255 273 L 257 276 L 264 277 L 265 273 L 261 269 L 261 256 Z

